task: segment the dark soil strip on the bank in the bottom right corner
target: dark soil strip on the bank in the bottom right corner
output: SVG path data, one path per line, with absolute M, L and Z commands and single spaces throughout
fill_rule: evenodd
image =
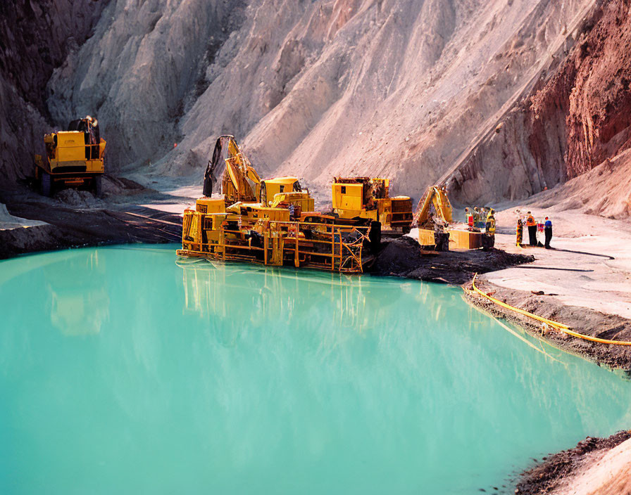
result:
M 631 438 L 630 432 L 618 432 L 608 438 L 587 437 L 578 442 L 573 449 L 558 452 L 547 458 L 544 462 L 525 471 L 520 475 L 520 480 L 515 490 L 516 494 L 539 495 L 549 494 L 561 480 L 567 479 L 585 468 L 586 454 L 595 451 L 609 450 Z

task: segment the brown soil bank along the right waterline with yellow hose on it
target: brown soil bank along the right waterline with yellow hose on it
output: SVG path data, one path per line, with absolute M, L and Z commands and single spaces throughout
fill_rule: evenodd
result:
M 589 308 L 566 306 L 543 291 L 528 293 L 499 287 L 484 280 L 477 281 L 475 285 L 497 300 L 552 321 L 561 321 L 578 333 L 607 340 L 631 341 L 631 320 L 622 316 L 604 314 Z M 464 288 L 470 289 L 471 284 L 467 283 Z M 515 311 L 499 307 L 482 296 L 469 294 L 468 298 L 485 311 L 518 324 L 532 335 L 544 338 L 560 349 L 583 356 L 596 364 L 623 370 L 627 377 L 631 378 L 631 346 L 601 344 L 575 338 L 559 330 L 546 328 L 542 323 L 521 316 Z

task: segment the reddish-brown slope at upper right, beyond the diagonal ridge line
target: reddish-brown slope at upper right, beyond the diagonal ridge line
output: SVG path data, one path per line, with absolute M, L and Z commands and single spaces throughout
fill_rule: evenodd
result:
M 451 181 L 458 198 L 519 199 L 605 160 L 610 169 L 625 165 L 611 159 L 631 146 L 631 1 L 599 2 L 573 35 L 577 41 L 558 70 L 542 78 L 462 161 Z M 619 206 L 614 210 L 594 212 L 624 213 Z

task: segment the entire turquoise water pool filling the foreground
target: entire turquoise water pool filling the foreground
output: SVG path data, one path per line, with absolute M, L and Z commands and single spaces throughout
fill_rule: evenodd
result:
M 631 425 L 630 383 L 458 288 L 174 249 L 0 262 L 0 493 L 512 493 Z

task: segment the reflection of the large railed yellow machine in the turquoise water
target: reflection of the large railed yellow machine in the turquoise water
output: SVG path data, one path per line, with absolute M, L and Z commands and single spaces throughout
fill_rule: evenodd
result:
M 304 319 L 328 327 L 348 328 L 363 333 L 380 318 L 387 307 L 401 297 L 401 285 L 384 291 L 375 299 L 365 277 L 292 271 L 275 267 L 238 267 L 206 261 L 179 263 L 182 269 L 185 308 L 202 318 L 220 318 L 244 328 L 245 318 L 257 326 L 267 320 L 290 322 L 295 328 Z M 385 286 L 387 287 L 387 285 Z M 404 286 L 405 287 L 405 286 Z M 423 285 L 410 285 L 420 303 Z M 436 318 L 440 317 L 437 307 Z

